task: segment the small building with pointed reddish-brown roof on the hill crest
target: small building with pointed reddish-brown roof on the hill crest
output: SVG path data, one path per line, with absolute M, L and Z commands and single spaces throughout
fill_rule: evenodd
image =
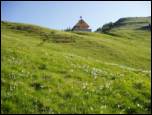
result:
M 85 31 L 85 32 L 91 32 L 91 29 L 89 29 L 89 25 L 82 19 L 82 16 L 80 16 L 80 20 L 77 22 L 77 24 L 72 28 L 72 31 Z

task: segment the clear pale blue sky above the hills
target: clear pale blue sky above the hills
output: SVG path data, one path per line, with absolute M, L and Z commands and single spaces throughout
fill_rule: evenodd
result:
M 151 1 L 2 1 L 1 20 L 72 28 L 80 16 L 95 31 L 123 17 L 151 16 Z

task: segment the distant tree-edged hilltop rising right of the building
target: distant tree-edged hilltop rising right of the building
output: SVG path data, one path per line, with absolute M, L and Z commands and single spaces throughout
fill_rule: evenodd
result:
M 107 23 L 103 27 L 98 28 L 97 32 L 111 33 L 116 30 L 151 30 L 151 16 L 149 17 L 125 17 L 120 18 L 116 22 Z

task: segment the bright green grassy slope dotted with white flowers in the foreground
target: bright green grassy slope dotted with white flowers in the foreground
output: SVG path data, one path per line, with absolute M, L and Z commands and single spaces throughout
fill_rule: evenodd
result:
M 149 31 L 1 25 L 1 113 L 151 112 Z

